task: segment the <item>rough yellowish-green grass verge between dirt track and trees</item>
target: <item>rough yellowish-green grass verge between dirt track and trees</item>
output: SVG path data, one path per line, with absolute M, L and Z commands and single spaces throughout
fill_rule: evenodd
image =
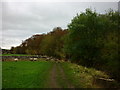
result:
M 69 82 L 77 88 L 99 88 L 101 86 L 94 83 L 94 79 L 100 77 L 109 78 L 104 72 L 92 68 L 86 68 L 68 62 L 62 63 L 61 65 Z

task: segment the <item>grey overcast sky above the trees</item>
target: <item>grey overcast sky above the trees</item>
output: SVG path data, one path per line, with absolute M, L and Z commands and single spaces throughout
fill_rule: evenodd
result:
M 2 48 L 18 46 L 34 34 L 67 28 L 71 19 L 86 8 L 105 13 L 118 9 L 117 2 L 2 2 Z M 0 20 L 1 21 L 1 20 Z

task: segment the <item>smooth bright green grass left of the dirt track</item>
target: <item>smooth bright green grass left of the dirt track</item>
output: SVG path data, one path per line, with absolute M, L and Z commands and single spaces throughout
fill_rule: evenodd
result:
M 3 88 L 41 88 L 46 87 L 52 62 L 19 61 L 3 62 Z

